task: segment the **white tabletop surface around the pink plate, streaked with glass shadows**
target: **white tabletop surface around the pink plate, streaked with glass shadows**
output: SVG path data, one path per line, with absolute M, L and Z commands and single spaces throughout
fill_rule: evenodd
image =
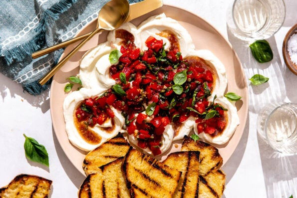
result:
M 257 115 L 274 101 L 297 103 L 297 76 L 286 67 L 282 43 L 287 31 L 297 23 L 297 0 L 285 0 L 287 16 L 283 27 L 268 39 L 274 59 L 257 63 L 248 44 L 227 31 L 226 11 L 233 0 L 164 0 L 164 4 L 189 10 L 215 26 L 238 53 L 246 77 L 256 73 L 270 78 L 259 87 L 248 85 L 249 116 L 244 135 L 231 159 L 223 167 L 227 175 L 226 198 L 297 197 L 297 155 L 274 152 L 257 134 Z M 62 151 L 51 125 L 49 90 L 40 96 L 24 93 L 20 85 L 0 74 L 0 187 L 16 175 L 33 174 L 53 181 L 51 198 L 75 198 L 84 180 Z M 49 168 L 28 161 L 23 143 L 26 134 L 43 144 L 49 153 Z

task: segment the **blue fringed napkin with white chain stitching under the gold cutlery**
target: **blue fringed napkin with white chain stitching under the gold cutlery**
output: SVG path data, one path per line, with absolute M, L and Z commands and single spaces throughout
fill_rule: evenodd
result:
M 63 49 L 37 59 L 32 52 L 72 38 L 108 1 L 1 0 L 0 72 L 30 94 L 40 94 L 50 82 L 41 86 L 38 80 L 57 64 Z

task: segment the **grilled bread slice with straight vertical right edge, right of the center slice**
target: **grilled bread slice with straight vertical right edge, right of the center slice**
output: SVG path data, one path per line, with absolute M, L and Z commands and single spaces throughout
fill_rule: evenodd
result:
M 198 198 L 199 151 L 171 153 L 163 164 L 182 172 L 174 198 Z

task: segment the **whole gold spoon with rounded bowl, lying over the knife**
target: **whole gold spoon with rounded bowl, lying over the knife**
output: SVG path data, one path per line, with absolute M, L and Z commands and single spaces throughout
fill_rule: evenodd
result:
M 98 14 L 98 27 L 79 45 L 77 45 L 65 58 L 54 66 L 45 76 L 39 80 L 44 85 L 64 64 L 69 60 L 91 37 L 103 30 L 114 30 L 121 26 L 129 15 L 129 2 L 127 0 L 110 0 Z

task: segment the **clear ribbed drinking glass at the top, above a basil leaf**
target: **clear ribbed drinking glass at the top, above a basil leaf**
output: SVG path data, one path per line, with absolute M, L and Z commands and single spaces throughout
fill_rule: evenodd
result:
M 281 28 L 285 16 L 284 0 L 235 0 L 227 12 L 227 25 L 240 39 L 266 39 Z

